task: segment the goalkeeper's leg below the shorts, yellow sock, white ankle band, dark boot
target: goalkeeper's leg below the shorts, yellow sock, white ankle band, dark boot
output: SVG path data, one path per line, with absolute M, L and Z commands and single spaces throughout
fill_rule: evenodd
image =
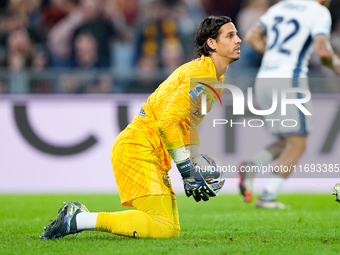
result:
M 83 230 L 100 230 L 133 238 L 173 237 L 173 200 L 170 195 L 145 196 L 133 200 L 132 204 L 136 210 L 90 213 L 79 202 L 66 203 L 41 239 L 64 237 Z

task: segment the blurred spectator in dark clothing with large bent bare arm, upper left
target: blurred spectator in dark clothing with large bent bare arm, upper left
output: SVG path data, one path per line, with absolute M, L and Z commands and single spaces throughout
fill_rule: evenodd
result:
M 68 15 L 48 34 L 47 44 L 56 67 L 69 67 L 75 56 L 75 38 L 82 33 L 91 34 L 97 44 L 98 57 L 103 66 L 111 64 L 111 43 L 131 34 L 125 30 L 125 19 L 115 0 L 64 0 Z M 123 38 L 124 39 L 124 38 Z

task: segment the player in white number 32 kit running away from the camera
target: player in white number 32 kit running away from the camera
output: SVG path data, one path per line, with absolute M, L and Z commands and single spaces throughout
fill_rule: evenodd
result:
M 322 63 L 340 74 L 340 60 L 329 43 L 331 15 L 327 7 L 330 0 L 285 0 L 273 5 L 260 17 L 258 24 L 250 29 L 246 41 L 263 53 L 260 70 L 255 84 L 255 96 L 262 110 L 272 106 L 273 88 L 298 88 L 309 92 L 307 72 L 312 52 Z M 307 93 L 308 94 L 308 93 Z M 302 99 L 304 93 L 288 93 L 287 98 Z M 280 97 L 279 97 L 280 98 Z M 280 101 L 278 102 L 280 106 Z M 295 105 L 287 105 L 287 115 L 280 107 L 268 119 L 293 119 L 294 127 L 273 125 L 266 121 L 270 131 L 278 136 L 277 142 L 258 151 L 249 162 L 242 165 L 267 165 L 277 159 L 278 166 L 295 165 L 306 147 L 306 138 L 311 131 L 311 116 L 305 115 Z M 311 102 L 302 106 L 312 112 Z M 278 122 L 275 122 L 278 123 Z M 240 168 L 241 169 L 241 168 Z M 273 175 L 256 202 L 261 208 L 284 208 L 276 201 L 289 172 Z M 240 173 L 240 191 L 245 201 L 252 199 L 252 174 Z

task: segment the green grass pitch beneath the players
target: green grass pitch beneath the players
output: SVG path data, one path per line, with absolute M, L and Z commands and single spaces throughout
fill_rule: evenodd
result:
M 287 210 L 256 209 L 238 195 L 196 203 L 179 195 L 181 237 L 130 239 L 83 232 L 41 241 L 63 201 L 125 210 L 114 195 L 0 195 L 0 254 L 340 254 L 340 205 L 330 195 L 279 196 Z

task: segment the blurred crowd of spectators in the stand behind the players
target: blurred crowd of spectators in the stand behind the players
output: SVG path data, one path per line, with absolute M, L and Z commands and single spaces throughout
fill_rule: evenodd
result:
M 207 15 L 231 17 L 242 39 L 276 2 L 0 0 L 0 94 L 150 93 L 196 57 L 194 34 Z M 331 43 L 340 54 L 340 0 L 330 11 Z M 260 61 L 242 42 L 227 75 L 255 77 Z M 310 69 L 312 77 L 332 75 L 315 55 Z

